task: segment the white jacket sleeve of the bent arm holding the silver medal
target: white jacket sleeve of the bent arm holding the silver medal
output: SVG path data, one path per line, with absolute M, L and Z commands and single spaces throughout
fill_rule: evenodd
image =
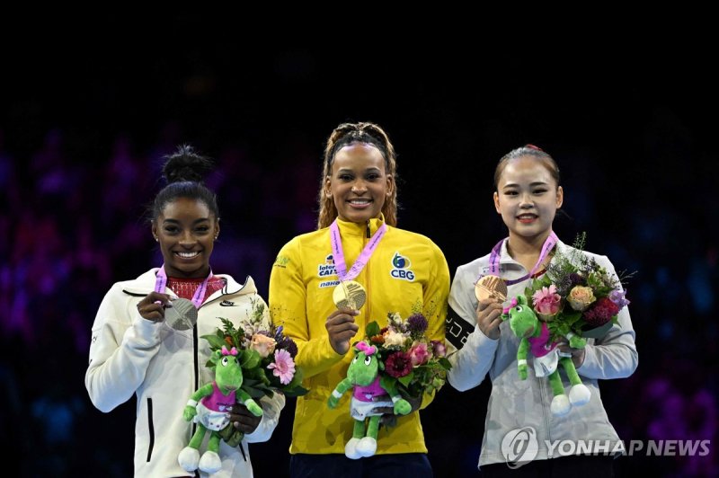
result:
M 160 348 L 161 323 L 142 318 L 134 307 L 132 312 L 134 316 L 128 317 L 127 298 L 116 285 L 102 299 L 95 317 L 84 385 L 102 412 L 129 400 Z

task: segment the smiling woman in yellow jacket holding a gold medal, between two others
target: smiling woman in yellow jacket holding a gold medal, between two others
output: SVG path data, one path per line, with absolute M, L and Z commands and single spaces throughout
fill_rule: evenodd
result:
M 433 396 L 409 400 L 413 411 L 377 435 L 377 454 L 351 460 L 350 394 L 330 409 L 368 323 L 386 326 L 387 314 L 422 312 L 427 336 L 444 341 L 449 271 L 435 243 L 397 229 L 395 148 L 372 123 L 334 129 L 324 152 L 318 229 L 282 248 L 272 267 L 272 320 L 297 341 L 297 366 L 309 393 L 297 398 L 290 474 L 305 476 L 431 476 L 418 410 Z M 338 308 L 333 291 L 353 280 L 366 292 L 359 310 Z M 347 282 L 345 282 L 346 284 Z

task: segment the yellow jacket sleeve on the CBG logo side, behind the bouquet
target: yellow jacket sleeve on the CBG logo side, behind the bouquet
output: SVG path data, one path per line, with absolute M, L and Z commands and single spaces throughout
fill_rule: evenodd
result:
M 424 288 L 422 304 L 423 314 L 427 318 L 427 338 L 431 341 L 445 341 L 444 322 L 447 317 L 447 297 L 449 294 L 449 268 L 444 254 L 436 244 L 431 248 L 431 268 L 427 286 Z M 434 400 L 435 394 L 423 394 L 420 410 Z

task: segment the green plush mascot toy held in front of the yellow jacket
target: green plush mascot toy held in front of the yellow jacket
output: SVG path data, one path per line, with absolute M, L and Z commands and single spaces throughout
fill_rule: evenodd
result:
M 345 456 L 353 460 L 373 456 L 377 452 L 380 418 L 380 414 L 374 412 L 377 407 L 394 407 L 396 415 L 412 411 L 412 405 L 397 393 L 394 386 L 383 384 L 380 380 L 379 371 L 384 369 L 384 364 L 377 360 L 376 352 L 377 347 L 369 346 L 365 341 L 355 345 L 355 357 L 347 369 L 347 378 L 335 387 L 327 403 L 330 408 L 335 408 L 342 395 L 353 389 L 350 414 L 355 420 L 354 429 L 351 440 L 344 447 Z M 375 397 L 391 397 L 391 401 L 373 400 Z M 368 425 L 365 427 L 367 417 Z

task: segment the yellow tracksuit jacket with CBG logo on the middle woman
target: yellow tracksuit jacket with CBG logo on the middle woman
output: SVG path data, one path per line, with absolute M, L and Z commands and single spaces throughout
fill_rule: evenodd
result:
M 368 243 L 368 234 L 375 234 L 381 221 L 355 224 L 338 219 L 348 270 Z M 359 332 L 352 342 L 364 337 L 365 327 L 372 321 L 386 326 L 389 312 L 398 312 L 404 318 L 422 312 L 429 322 L 428 337 L 444 341 L 449 270 L 444 255 L 429 238 L 389 226 L 354 280 L 367 289 L 368 299 L 355 317 Z M 336 310 L 332 295 L 338 283 L 328 227 L 292 239 L 272 267 L 272 320 L 297 341 L 296 362 L 309 389 L 308 394 L 297 398 L 291 454 L 343 454 L 345 443 L 352 437 L 351 393 L 342 396 L 337 408 L 327 406 L 353 358 L 352 350 L 342 356 L 332 349 L 324 328 L 327 316 Z M 422 408 L 432 399 L 426 395 Z M 398 417 L 396 427 L 383 427 L 377 435 L 377 454 L 420 452 L 426 453 L 427 448 L 418 412 Z

